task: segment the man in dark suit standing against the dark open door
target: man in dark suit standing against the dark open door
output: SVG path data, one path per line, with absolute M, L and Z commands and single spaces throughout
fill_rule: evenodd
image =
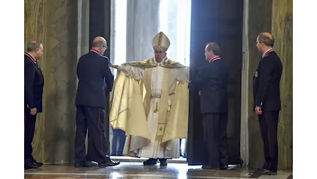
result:
M 200 91 L 201 113 L 203 114 L 203 135 L 206 146 L 206 160 L 203 169 L 227 169 L 227 84 L 229 71 L 219 56 L 218 43 L 208 43 L 205 59 L 209 62 L 198 76 L 190 82 L 189 88 Z

